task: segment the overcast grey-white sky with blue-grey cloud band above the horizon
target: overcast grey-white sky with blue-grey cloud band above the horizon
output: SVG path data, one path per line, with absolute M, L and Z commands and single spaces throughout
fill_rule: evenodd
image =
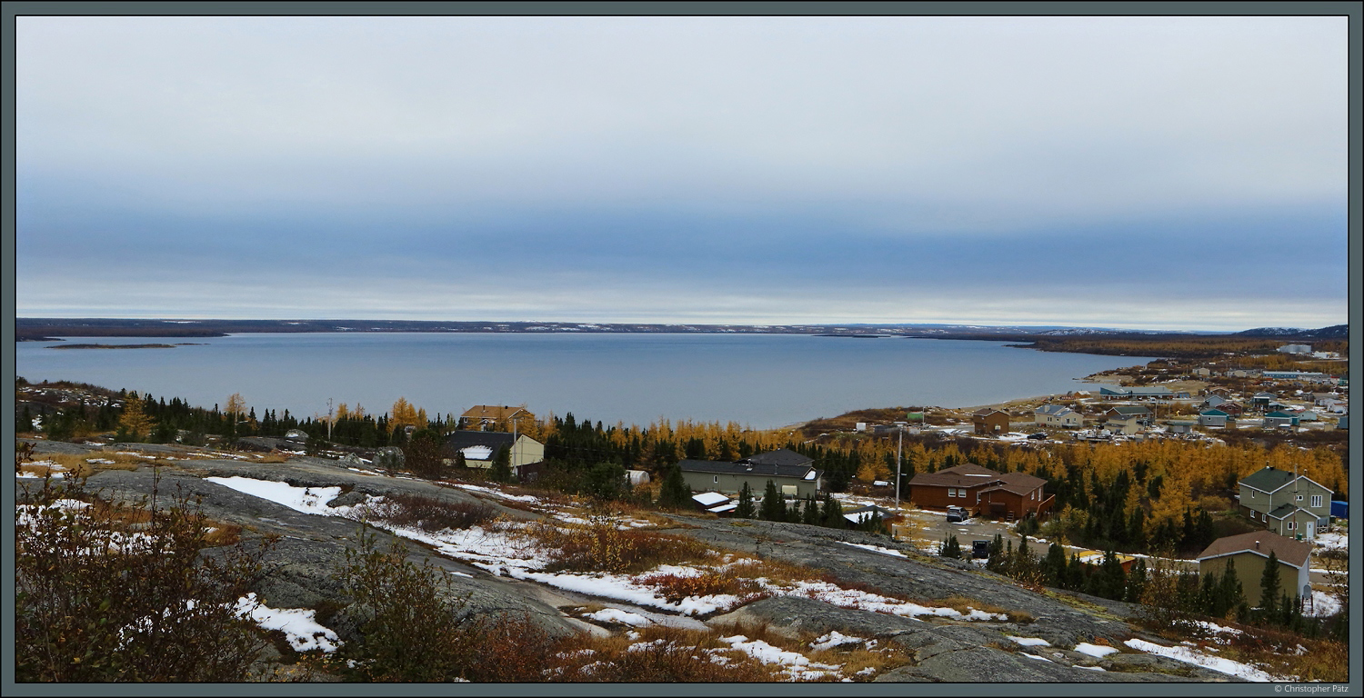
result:
M 1346 18 L 18 18 L 19 316 L 1346 322 Z

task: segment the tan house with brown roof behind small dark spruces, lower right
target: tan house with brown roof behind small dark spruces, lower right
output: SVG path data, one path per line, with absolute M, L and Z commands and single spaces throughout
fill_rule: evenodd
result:
M 1267 530 L 1214 540 L 1207 549 L 1199 553 L 1198 571 L 1202 575 L 1222 574 L 1226 571 L 1226 560 L 1232 560 L 1232 568 L 1241 582 L 1245 601 L 1251 607 L 1259 607 L 1262 603 L 1260 581 L 1264 578 L 1264 566 L 1269 563 L 1270 552 L 1274 553 L 1279 564 L 1279 589 L 1289 598 L 1294 596 L 1311 597 L 1312 544 Z

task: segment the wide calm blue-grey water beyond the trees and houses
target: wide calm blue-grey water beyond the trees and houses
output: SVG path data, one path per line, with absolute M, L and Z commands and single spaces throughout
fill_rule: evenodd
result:
M 1093 387 L 1078 379 L 1150 357 L 1049 353 L 1005 342 L 798 334 L 237 334 L 65 338 L 173 349 L 49 349 L 18 342 L 18 375 L 180 397 L 241 393 L 256 413 L 326 414 L 327 399 L 427 413 L 521 405 L 546 416 L 645 425 L 660 417 L 775 428 L 862 408 L 963 408 Z

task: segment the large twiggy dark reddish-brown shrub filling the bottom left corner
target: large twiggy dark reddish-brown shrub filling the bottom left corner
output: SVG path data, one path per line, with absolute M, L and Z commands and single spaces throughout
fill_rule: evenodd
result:
M 240 682 L 265 646 L 239 608 L 270 547 L 211 545 L 186 495 L 102 502 L 83 480 L 26 491 L 15 526 L 20 682 Z M 153 489 L 150 499 L 157 502 Z

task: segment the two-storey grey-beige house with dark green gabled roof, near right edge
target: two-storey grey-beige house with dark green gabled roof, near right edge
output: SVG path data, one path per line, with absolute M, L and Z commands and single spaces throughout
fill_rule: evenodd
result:
M 1271 466 L 1240 481 L 1241 515 L 1281 536 L 1314 540 L 1330 522 L 1331 489 Z

